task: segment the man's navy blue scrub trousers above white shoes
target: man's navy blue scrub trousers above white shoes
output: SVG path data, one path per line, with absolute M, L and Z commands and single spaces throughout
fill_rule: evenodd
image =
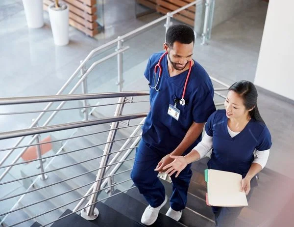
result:
M 170 152 L 165 153 L 158 150 L 143 140 L 141 140 L 136 150 L 131 178 L 152 207 L 158 207 L 165 199 L 164 186 L 157 177 L 158 172 L 154 171 L 154 169 L 159 161 Z M 192 176 L 190 167 L 191 164 L 182 170 L 177 178 L 174 177 L 175 173 L 171 177 L 172 196 L 170 202 L 172 209 L 175 211 L 180 211 L 186 207 L 188 187 Z

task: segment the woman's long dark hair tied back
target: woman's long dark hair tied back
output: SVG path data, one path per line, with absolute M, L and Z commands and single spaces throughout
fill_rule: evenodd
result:
M 265 123 L 257 108 L 258 94 L 253 83 L 249 81 L 238 81 L 235 84 L 231 85 L 229 87 L 229 90 L 235 91 L 243 98 L 244 105 L 247 110 L 254 107 L 253 110 L 249 112 L 251 118 Z

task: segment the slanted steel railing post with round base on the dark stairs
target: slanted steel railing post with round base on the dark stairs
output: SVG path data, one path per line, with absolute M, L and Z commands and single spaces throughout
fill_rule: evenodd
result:
M 123 113 L 123 107 L 124 107 L 124 103 L 125 103 L 125 97 L 121 97 L 118 100 L 118 105 L 115 111 L 114 116 L 119 116 Z M 102 178 L 104 177 L 105 174 L 105 170 L 107 167 L 107 163 L 108 163 L 108 159 L 109 159 L 109 155 L 112 149 L 112 145 L 115 139 L 115 135 L 117 132 L 117 128 L 119 126 L 119 122 L 112 122 L 111 127 L 110 127 L 110 131 L 107 137 L 107 141 L 106 141 L 106 145 L 103 151 L 103 157 L 101 158 L 101 162 L 100 162 L 100 166 L 99 166 L 99 170 L 96 176 L 96 183 L 94 184 L 93 187 L 93 193 L 91 196 L 91 199 L 89 200 L 89 203 L 92 204 L 90 207 L 85 208 L 82 210 L 81 212 L 81 216 L 86 219 L 86 220 L 94 220 L 98 217 L 99 215 L 99 211 L 98 209 L 95 207 L 96 204 L 93 204 L 97 201 L 98 198 L 98 193 L 101 189 L 101 184 L 102 184 Z

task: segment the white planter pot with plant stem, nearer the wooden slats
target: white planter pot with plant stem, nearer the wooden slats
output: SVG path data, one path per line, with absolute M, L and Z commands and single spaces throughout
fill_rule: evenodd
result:
M 65 9 L 55 9 L 54 3 L 48 6 L 54 44 L 64 46 L 69 43 L 69 6 L 64 2 L 59 3 Z

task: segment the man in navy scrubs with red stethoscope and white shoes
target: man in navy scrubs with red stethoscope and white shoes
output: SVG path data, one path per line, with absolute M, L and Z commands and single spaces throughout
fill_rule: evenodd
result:
M 173 25 L 166 34 L 164 51 L 153 54 L 145 77 L 150 86 L 150 112 L 143 126 L 131 173 L 134 184 L 149 205 L 141 222 L 152 225 L 167 202 L 158 172 L 173 159 L 186 155 L 201 141 L 203 126 L 215 112 L 214 90 L 204 68 L 193 60 L 195 35 L 186 25 Z M 178 221 L 187 203 L 192 176 L 188 165 L 180 175 L 172 175 L 171 207 L 167 216 Z

